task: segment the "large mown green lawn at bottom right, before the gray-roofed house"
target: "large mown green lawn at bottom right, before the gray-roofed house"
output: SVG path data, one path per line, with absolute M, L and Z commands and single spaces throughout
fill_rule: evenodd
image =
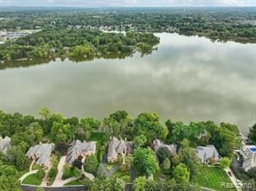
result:
M 205 188 L 212 188 L 217 191 L 234 190 L 221 187 L 221 182 L 231 183 L 229 177 L 223 169 L 219 167 L 201 166 L 199 171 L 199 174 L 195 175 L 195 178 L 192 181 L 193 184 Z

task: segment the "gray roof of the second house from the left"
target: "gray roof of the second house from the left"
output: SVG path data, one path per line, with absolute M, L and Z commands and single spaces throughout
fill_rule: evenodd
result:
M 36 160 L 37 164 L 46 165 L 52 151 L 54 150 L 54 143 L 39 143 L 33 147 L 30 147 L 26 156 L 35 157 L 39 156 Z

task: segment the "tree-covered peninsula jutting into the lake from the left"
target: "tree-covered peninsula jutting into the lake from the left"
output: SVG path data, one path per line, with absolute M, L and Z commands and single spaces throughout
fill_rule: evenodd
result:
M 104 33 L 99 29 L 60 29 L 54 26 L 7 41 L 0 46 L 0 60 L 40 60 L 66 58 L 125 58 L 138 51 L 149 54 L 159 43 L 150 33 Z

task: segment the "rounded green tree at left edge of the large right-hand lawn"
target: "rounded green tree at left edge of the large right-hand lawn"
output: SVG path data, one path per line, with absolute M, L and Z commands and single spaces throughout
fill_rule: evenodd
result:
M 187 169 L 186 165 L 180 163 L 176 168 L 173 170 L 173 177 L 178 183 L 189 182 L 189 170 Z

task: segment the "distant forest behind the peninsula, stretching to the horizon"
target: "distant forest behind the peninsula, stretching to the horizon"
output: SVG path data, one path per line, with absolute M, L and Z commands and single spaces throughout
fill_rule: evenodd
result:
M 0 10 L 0 29 L 89 27 L 111 30 L 177 32 L 213 41 L 256 42 L 254 8 L 138 8 Z

